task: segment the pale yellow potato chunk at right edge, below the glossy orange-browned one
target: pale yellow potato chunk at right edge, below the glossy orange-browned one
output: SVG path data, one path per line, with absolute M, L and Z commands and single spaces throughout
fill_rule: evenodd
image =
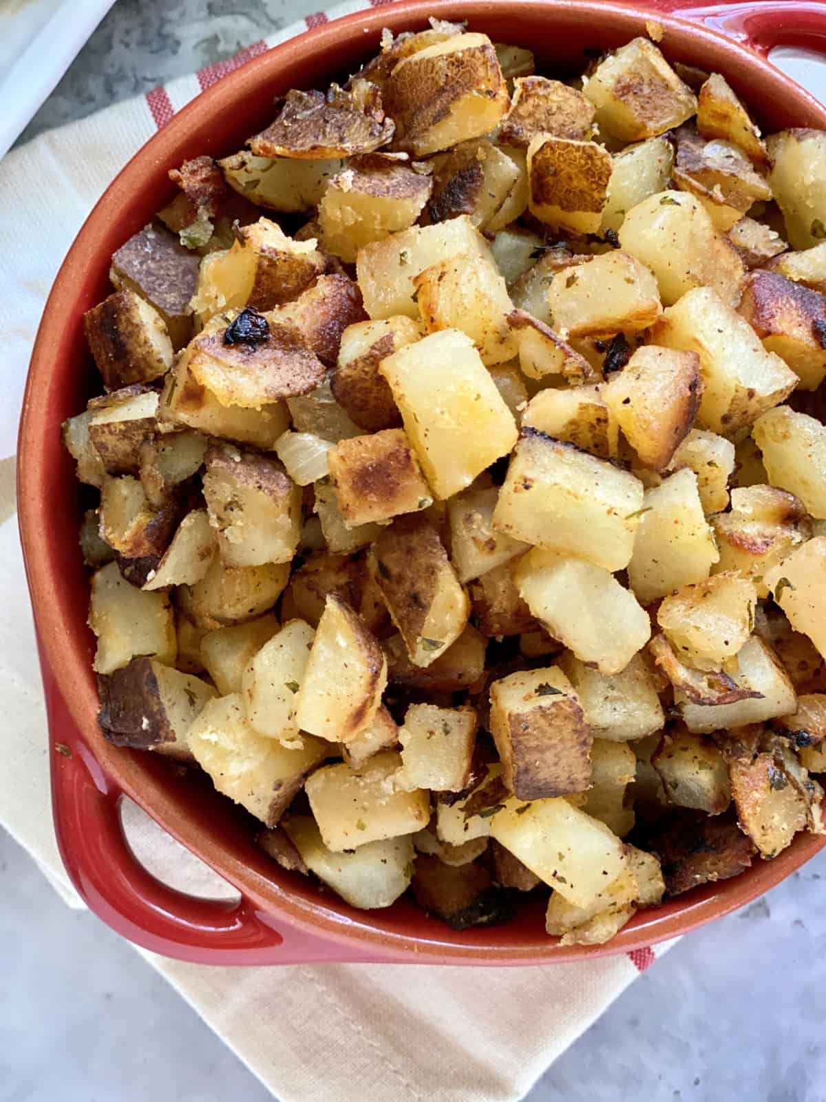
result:
M 772 486 L 798 497 L 813 517 L 826 518 L 826 428 L 780 406 L 760 418 L 752 435 Z

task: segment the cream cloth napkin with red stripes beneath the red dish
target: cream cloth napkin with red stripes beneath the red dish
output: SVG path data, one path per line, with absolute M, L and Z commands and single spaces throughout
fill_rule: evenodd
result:
M 373 0 L 373 7 L 382 0 Z M 0 823 L 32 854 L 69 906 L 83 907 L 61 863 L 50 810 L 47 735 L 14 516 L 14 449 L 32 343 L 48 289 L 89 209 L 126 161 L 186 102 L 238 65 L 359 2 L 247 46 L 141 98 L 42 134 L 0 163 L 0 699 L 6 754 Z M 816 65 L 792 58 L 817 94 Z M 134 806 L 135 853 L 182 890 L 235 889 Z M 555 968 L 327 964 L 207 968 L 144 958 L 283 1102 L 461 1102 L 521 1099 L 671 943 Z M 512 1007 L 503 1014 L 502 1007 Z M 530 1007 L 530 1012 L 528 1008 Z M 520 1013 L 524 1009 L 528 1013 Z

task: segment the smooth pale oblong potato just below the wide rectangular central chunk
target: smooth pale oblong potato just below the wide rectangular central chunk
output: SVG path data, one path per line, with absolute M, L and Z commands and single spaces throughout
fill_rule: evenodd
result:
M 651 636 L 648 615 L 602 566 L 535 548 L 517 584 L 533 615 L 577 658 L 619 673 Z

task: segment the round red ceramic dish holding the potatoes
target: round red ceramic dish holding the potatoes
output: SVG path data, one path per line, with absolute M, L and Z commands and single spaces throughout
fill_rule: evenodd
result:
M 377 52 L 383 26 L 419 29 L 431 14 L 468 20 L 494 42 L 526 43 L 542 63 L 569 67 L 582 67 L 586 51 L 645 34 L 645 21 L 655 18 L 666 55 L 724 73 L 765 129 L 826 128 L 826 109 L 765 61 L 767 51 L 781 43 L 818 46 L 826 37 L 826 6 L 781 0 L 670 14 L 678 7 L 680 0 L 659 0 L 648 10 L 587 0 L 402 0 L 324 24 L 237 69 L 173 118 L 123 169 L 80 230 L 32 357 L 20 430 L 20 526 L 51 722 L 58 842 L 91 909 L 138 944 L 215 964 L 548 964 L 628 952 L 685 933 L 765 892 L 826 842 L 800 835 L 772 862 L 643 911 L 607 946 L 559 949 L 544 933 L 539 907 L 529 906 L 510 925 L 464 932 L 406 901 L 387 911 L 357 911 L 278 868 L 253 845 L 252 821 L 216 797 L 208 782 L 182 780 L 150 754 L 117 749 L 97 728 L 88 584 L 76 534 L 78 487 L 59 425 L 88 397 L 81 316 L 108 293 L 115 249 L 169 199 L 167 170 L 186 158 L 238 149 L 270 120 L 276 94 L 352 72 Z M 193 899 L 150 876 L 126 844 L 117 810 L 121 793 L 235 884 L 242 901 Z

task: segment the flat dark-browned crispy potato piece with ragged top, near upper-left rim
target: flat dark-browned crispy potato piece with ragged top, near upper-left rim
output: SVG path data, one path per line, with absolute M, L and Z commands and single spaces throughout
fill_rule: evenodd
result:
M 366 80 L 360 84 L 366 87 L 359 91 L 372 104 L 359 104 L 359 96 L 337 95 L 333 89 L 325 96 L 315 88 L 292 88 L 275 120 L 250 138 L 250 149 L 256 156 L 318 160 L 371 153 L 385 145 L 393 137 L 393 122 L 384 117 L 378 88 Z

